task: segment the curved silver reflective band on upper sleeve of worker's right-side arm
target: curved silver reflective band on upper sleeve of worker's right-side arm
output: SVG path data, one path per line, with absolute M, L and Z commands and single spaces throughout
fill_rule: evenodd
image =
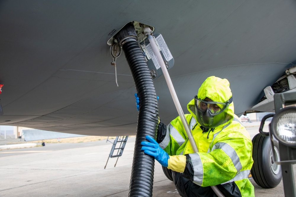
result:
M 234 167 L 237 169 L 237 172 L 242 170 L 242 164 L 239 161 L 239 156 L 235 152 L 235 150 L 229 146 L 229 144 L 224 142 L 218 142 L 214 144 L 212 151 L 215 149 L 222 149 L 232 160 L 232 163 L 234 164 Z

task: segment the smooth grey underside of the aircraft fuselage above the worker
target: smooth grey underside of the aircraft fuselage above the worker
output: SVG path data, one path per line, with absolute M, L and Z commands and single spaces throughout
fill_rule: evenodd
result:
M 295 1 L 1 1 L 1 125 L 86 135 L 136 132 L 136 89 L 109 40 L 139 21 L 163 35 L 183 110 L 211 75 L 226 78 L 235 113 L 252 108 L 296 60 Z M 177 116 L 163 76 L 159 115 Z

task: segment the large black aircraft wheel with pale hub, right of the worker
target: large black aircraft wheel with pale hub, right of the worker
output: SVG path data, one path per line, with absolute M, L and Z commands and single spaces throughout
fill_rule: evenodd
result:
M 269 136 L 262 136 L 260 133 L 254 136 L 253 143 L 253 160 L 254 164 L 251 169 L 251 174 L 254 181 L 263 188 L 274 188 L 282 178 L 281 166 L 273 162 L 271 143 Z M 279 144 L 274 141 L 275 160 L 279 160 Z

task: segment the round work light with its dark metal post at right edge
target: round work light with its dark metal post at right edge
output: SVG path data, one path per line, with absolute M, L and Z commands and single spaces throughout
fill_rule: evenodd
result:
M 296 196 L 292 164 L 296 163 L 296 92 L 274 94 L 275 115 L 269 124 L 274 163 L 281 165 L 285 196 Z M 276 156 L 274 138 L 279 141 Z M 277 161 L 276 161 L 277 160 Z

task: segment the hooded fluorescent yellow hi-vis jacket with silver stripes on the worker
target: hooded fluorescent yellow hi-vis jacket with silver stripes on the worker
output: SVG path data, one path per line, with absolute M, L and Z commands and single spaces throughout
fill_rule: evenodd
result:
M 226 102 L 232 95 L 229 82 L 225 80 L 209 77 L 200 87 L 198 98 Z M 199 152 L 194 153 L 180 117 L 168 126 L 160 123 L 157 141 L 170 155 L 168 168 L 182 172 L 182 176 L 202 187 L 219 185 L 239 196 L 255 196 L 254 186 L 248 179 L 253 164 L 252 141 L 234 114 L 233 102 L 229 105 L 226 121 L 208 131 L 197 122 L 194 99 L 187 109 L 190 114 L 185 117 Z

